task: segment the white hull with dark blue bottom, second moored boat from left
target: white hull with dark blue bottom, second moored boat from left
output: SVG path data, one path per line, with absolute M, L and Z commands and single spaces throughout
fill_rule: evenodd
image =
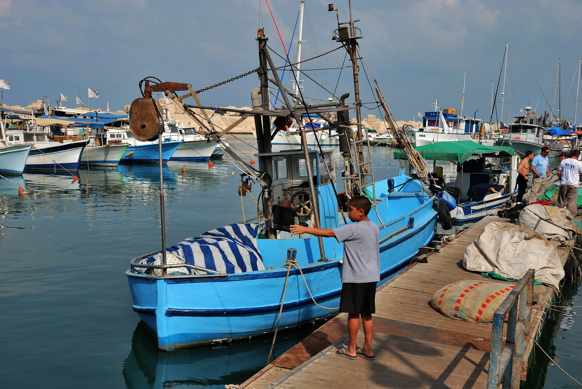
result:
M 42 148 L 30 150 L 26 159 L 26 170 L 78 170 L 81 162 L 81 153 L 87 141 L 68 143 L 53 142 Z

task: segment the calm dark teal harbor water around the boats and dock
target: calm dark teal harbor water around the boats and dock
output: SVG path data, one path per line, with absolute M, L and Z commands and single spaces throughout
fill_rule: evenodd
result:
M 229 137 L 246 160 L 257 159 L 252 141 Z M 372 156 L 376 179 L 407 167 L 392 159 L 391 148 L 372 148 Z M 447 172 L 454 167 L 445 166 Z M 166 244 L 241 222 L 242 206 L 247 219 L 254 217 L 258 185 L 252 197 L 239 197 L 240 173 L 228 155 L 212 167 L 168 163 L 162 175 Z M 223 388 L 260 370 L 272 335 L 162 352 L 132 311 L 124 274 L 129 260 L 161 248 L 158 167 L 73 174 L 80 180 L 54 173 L 0 179 L 0 387 Z M 29 195 L 19 198 L 17 184 Z M 565 288 L 558 305 L 582 306 L 579 285 Z M 541 343 L 576 377 L 582 320 L 574 316 L 578 308 L 556 309 Z M 275 357 L 318 324 L 281 331 Z M 530 378 L 528 388 L 574 384 L 538 352 Z

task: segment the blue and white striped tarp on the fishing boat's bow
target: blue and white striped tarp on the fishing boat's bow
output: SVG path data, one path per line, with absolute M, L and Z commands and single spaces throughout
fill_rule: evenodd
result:
M 226 274 L 264 270 L 261 253 L 257 249 L 257 233 L 258 224 L 229 224 L 197 237 L 187 238 L 166 248 L 166 252 L 186 259 L 186 263 L 190 265 Z M 151 264 L 158 261 L 158 264 L 161 263 L 161 256 L 161 253 L 157 253 L 143 258 L 140 263 Z M 149 269 L 136 270 L 140 273 L 150 273 Z M 190 274 L 205 274 L 198 270 L 188 270 Z

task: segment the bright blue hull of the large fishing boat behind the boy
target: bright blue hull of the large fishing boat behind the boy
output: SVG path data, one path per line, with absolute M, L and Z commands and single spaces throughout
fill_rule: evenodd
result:
M 400 183 L 407 179 L 398 178 Z M 377 188 L 376 193 L 383 191 L 384 188 Z M 381 269 L 378 285 L 398 274 L 418 248 L 431 241 L 437 222 L 433 200 L 421 191 L 384 193 L 384 199 L 377 205 L 383 222 L 376 220 L 384 224 L 378 243 Z M 400 213 L 400 209 L 410 210 L 402 215 L 391 215 L 391 210 Z M 377 219 L 374 210 L 368 217 Z M 128 270 L 133 310 L 157 336 L 158 347 L 167 351 L 275 331 L 282 302 L 279 329 L 334 315 L 337 309 L 323 309 L 313 304 L 296 268 L 290 271 L 283 301 L 285 253 L 288 248 L 296 248 L 297 262 L 315 301 L 329 308 L 339 306 L 343 244 L 335 238 L 323 238 L 323 241 L 329 262 L 318 262 L 316 237 L 260 239 L 257 244 L 264 264 L 274 269 L 226 277 L 155 277 Z

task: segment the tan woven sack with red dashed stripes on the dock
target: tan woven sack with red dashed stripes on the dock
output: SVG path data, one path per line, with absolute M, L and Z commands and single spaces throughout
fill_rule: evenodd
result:
M 435 311 L 464 322 L 493 322 L 495 310 L 515 285 L 480 280 L 457 281 L 432 295 Z

